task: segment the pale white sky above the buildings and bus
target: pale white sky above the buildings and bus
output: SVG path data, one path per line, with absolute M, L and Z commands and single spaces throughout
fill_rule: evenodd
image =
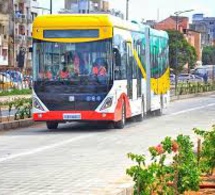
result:
M 49 8 L 50 0 L 38 0 L 40 6 Z M 110 7 L 125 13 L 126 0 L 109 0 Z M 64 7 L 64 0 L 53 0 L 54 13 Z M 129 19 L 161 21 L 176 11 L 194 11 L 181 14 L 192 19 L 195 13 L 215 17 L 215 0 L 129 0 Z

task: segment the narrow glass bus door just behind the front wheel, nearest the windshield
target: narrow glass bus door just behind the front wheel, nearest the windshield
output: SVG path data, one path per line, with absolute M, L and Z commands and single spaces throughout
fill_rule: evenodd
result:
M 126 43 L 126 50 L 127 50 L 127 71 L 126 71 L 126 78 L 127 78 L 127 95 L 129 99 L 133 99 L 133 79 L 132 79 L 132 50 L 131 50 L 131 42 Z

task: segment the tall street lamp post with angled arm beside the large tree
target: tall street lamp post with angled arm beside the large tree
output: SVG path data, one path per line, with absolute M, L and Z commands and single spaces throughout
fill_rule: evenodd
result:
M 174 13 L 175 15 L 175 29 L 176 31 L 178 31 L 178 16 L 187 12 L 192 12 L 194 11 L 193 9 L 189 9 L 189 10 L 184 10 L 184 11 L 177 11 Z M 179 29 L 180 30 L 180 29 Z M 176 34 L 177 36 L 177 34 Z M 177 39 L 177 37 L 176 37 Z M 176 47 L 175 49 L 175 95 L 177 95 L 177 85 L 178 85 L 178 72 L 177 72 L 177 66 L 178 66 L 178 48 Z

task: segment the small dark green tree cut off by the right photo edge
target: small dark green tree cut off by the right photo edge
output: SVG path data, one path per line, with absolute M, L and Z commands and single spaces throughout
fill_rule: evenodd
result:
M 202 51 L 203 64 L 215 64 L 215 46 L 207 46 Z

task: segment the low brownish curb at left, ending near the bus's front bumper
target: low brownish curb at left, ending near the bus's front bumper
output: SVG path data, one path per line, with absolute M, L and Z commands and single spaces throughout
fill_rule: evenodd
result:
M 18 129 L 21 127 L 29 127 L 33 124 L 34 124 L 34 121 L 32 118 L 11 121 L 11 122 L 3 122 L 3 123 L 0 123 L 0 131 L 8 131 L 11 129 Z

